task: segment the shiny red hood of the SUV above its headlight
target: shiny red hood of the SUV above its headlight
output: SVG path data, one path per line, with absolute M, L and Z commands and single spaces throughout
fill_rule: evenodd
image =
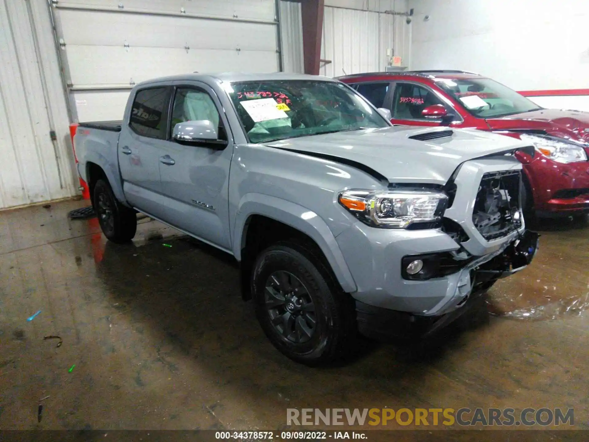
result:
M 502 118 L 488 118 L 492 130 L 531 129 L 589 143 L 589 112 L 540 109 Z

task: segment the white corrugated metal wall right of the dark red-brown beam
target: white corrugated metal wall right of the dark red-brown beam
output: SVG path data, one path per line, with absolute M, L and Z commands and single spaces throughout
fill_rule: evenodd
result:
M 387 49 L 409 62 L 410 27 L 405 17 L 384 12 L 325 6 L 321 45 L 321 75 L 339 77 L 384 71 Z

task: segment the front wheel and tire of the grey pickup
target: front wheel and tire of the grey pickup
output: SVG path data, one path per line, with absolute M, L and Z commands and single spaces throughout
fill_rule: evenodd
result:
M 306 365 L 348 354 L 356 329 L 353 300 L 322 261 L 312 247 L 282 242 L 263 250 L 252 272 L 264 333 L 280 352 Z

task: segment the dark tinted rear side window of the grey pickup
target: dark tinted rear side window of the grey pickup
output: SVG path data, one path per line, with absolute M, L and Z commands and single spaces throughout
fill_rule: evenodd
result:
M 166 137 L 166 116 L 168 88 L 156 87 L 138 91 L 131 109 L 129 126 L 145 137 Z

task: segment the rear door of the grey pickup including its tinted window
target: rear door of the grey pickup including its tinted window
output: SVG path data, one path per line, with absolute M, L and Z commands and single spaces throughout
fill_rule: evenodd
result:
M 154 216 L 163 215 L 160 151 L 168 141 L 170 86 L 138 90 L 125 116 L 118 142 L 118 159 L 127 201 Z

